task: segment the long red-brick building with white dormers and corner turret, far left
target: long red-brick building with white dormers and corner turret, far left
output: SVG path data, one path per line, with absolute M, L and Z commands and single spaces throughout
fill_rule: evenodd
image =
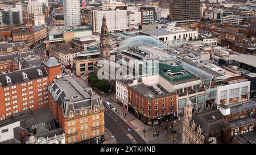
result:
M 18 112 L 48 106 L 49 82 L 60 74 L 60 65 L 52 67 L 51 61 L 49 59 L 42 66 L 0 75 L 0 120 Z

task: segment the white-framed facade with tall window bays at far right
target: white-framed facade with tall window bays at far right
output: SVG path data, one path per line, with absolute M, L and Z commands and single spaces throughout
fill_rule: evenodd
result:
M 250 99 L 250 81 L 217 86 L 216 104 L 230 104 Z

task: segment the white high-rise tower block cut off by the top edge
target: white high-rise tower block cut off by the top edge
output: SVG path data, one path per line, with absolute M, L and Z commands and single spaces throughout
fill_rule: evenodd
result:
M 64 0 L 64 23 L 65 26 L 79 26 L 80 19 L 80 1 Z

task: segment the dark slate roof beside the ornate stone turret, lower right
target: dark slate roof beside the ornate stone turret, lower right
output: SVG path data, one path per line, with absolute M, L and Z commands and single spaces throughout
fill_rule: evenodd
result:
M 226 123 L 224 116 L 219 110 L 212 110 L 203 114 L 195 115 L 193 120 L 195 120 L 197 126 L 200 125 L 206 135 L 212 131 L 219 133 L 223 128 L 228 127 L 228 123 Z

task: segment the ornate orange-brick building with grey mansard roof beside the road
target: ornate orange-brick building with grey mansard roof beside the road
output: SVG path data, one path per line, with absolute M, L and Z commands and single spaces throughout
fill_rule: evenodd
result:
M 48 87 L 49 106 L 66 143 L 103 143 L 104 107 L 89 87 L 83 89 L 68 75 L 54 79 Z

